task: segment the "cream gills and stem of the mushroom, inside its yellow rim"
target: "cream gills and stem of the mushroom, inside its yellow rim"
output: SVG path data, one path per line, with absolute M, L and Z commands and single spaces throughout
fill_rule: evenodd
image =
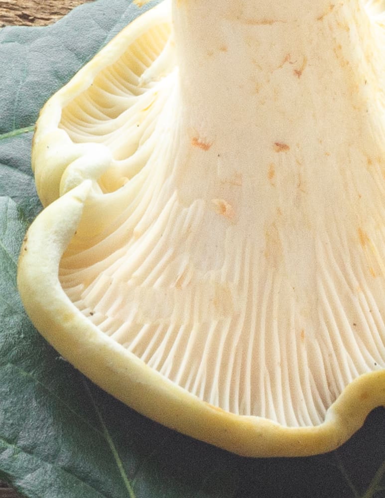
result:
M 176 6 L 177 69 L 119 91 L 109 76 L 128 51 L 96 80 L 123 102 L 113 121 L 80 111 L 94 89 L 64 110 L 74 141 L 112 150 L 102 189 L 128 183 L 102 203 L 119 206 L 107 238 L 88 239 L 98 198 L 86 208 L 61 282 L 103 332 L 201 399 L 306 426 L 385 367 L 382 96 L 352 3 L 301 20 L 251 3 Z M 196 26 L 205 15 L 210 30 Z

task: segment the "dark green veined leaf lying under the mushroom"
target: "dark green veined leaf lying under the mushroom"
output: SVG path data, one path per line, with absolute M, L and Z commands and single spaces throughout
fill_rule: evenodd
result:
M 0 478 L 28 498 L 384 498 L 383 408 L 331 454 L 240 458 L 101 391 L 26 317 L 16 265 L 40 210 L 30 171 L 39 109 L 138 12 L 98 0 L 53 26 L 0 31 Z

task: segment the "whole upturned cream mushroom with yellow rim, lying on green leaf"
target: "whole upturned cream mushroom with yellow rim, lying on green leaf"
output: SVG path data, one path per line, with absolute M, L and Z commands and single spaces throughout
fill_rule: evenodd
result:
M 331 450 L 385 404 L 384 22 L 166 0 L 49 100 L 18 282 L 61 355 L 242 455 Z

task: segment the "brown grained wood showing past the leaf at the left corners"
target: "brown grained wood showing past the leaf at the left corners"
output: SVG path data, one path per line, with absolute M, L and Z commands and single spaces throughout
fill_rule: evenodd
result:
M 0 0 L 0 28 L 51 24 L 87 1 L 92 0 Z M 0 498 L 19 498 L 19 495 L 0 482 Z

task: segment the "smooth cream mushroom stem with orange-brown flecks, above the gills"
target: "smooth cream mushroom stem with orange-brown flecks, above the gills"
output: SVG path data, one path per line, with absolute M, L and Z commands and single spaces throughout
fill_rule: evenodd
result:
M 293 178 L 322 206 L 325 194 L 341 198 L 340 168 L 381 157 L 383 50 L 362 1 L 317 1 L 304 11 L 300 1 L 175 0 L 173 20 L 181 143 L 192 149 L 179 184 L 188 199 L 202 196 L 202 176 L 221 185 L 208 189 L 209 202 L 226 179 L 242 177 L 258 186 L 248 198 L 254 225 L 270 209 L 265 202 L 292 204 L 284 197 Z M 264 190 L 278 186 L 277 176 L 283 196 Z

